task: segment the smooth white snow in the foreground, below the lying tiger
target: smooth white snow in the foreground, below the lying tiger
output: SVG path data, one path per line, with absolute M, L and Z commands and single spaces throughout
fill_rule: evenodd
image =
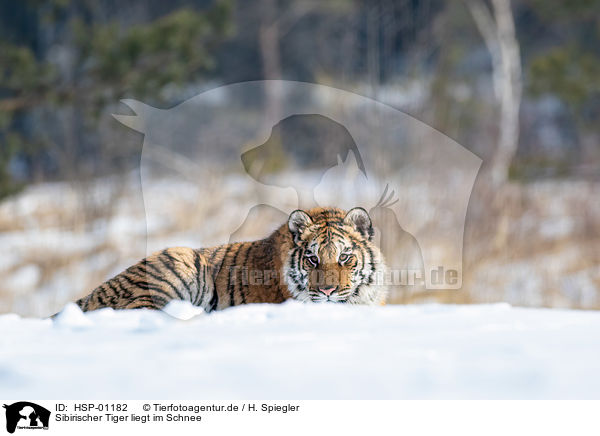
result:
M 600 398 L 600 312 L 289 302 L 184 321 L 69 305 L 0 329 L 5 398 Z

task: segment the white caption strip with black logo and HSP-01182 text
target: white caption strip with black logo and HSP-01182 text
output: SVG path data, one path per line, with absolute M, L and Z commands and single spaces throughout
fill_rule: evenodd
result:
M 597 435 L 600 401 L 0 400 L 0 435 Z M 491 430 L 494 431 L 491 431 Z

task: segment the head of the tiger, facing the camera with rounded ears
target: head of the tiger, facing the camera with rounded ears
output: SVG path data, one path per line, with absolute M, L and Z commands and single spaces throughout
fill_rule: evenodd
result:
M 372 242 L 366 210 L 296 210 L 288 228 L 293 246 L 284 264 L 286 285 L 301 301 L 382 304 L 386 267 Z

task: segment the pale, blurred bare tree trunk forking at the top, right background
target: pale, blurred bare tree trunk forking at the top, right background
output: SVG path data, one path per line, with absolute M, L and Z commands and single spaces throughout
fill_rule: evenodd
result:
M 490 164 L 492 183 L 506 182 L 519 143 L 521 55 L 510 0 L 466 0 L 475 24 L 492 57 L 494 94 L 500 105 L 500 133 Z

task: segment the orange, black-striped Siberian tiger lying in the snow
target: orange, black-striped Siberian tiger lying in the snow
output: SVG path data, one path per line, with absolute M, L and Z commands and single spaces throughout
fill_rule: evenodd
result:
M 142 259 L 76 304 L 82 311 L 161 310 L 184 300 L 205 312 L 250 303 L 384 304 L 386 266 L 367 211 L 295 210 L 270 236 L 210 248 L 172 247 Z

